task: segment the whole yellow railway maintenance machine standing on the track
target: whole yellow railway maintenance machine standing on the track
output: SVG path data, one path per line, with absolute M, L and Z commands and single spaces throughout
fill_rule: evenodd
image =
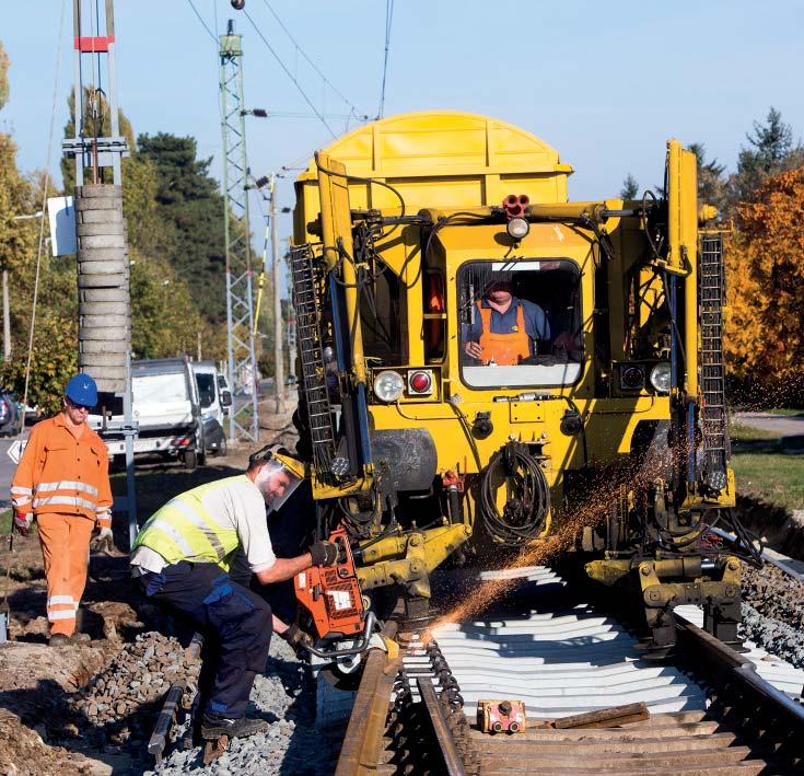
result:
M 434 112 L 361 127 L 300 175 L 299 450 L 319 534 L 346 531 L 375 607 L 396 586 L 423 616 L 447 557 L 552 542 L 639 597 L 654 647 L 690 602 L 734 641 L 750 543 L 729 511 L 715 211 L 676 140 L 661 197 L 569 202 L 571 173 L 523 129 Z

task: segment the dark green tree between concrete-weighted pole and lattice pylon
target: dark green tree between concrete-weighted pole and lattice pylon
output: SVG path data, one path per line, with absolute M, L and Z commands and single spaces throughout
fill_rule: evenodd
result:
M 210 159 L 196 159 L 196 140 L 160 132 L 140 135 L 139 155 L 153 163 L 162 247 L 189 286 L 201 315 L 225 321 L 223 197 L 209 175 Z

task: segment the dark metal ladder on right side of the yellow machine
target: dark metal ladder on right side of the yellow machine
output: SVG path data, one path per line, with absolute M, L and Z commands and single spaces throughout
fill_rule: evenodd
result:
M 701 320 L 700 390 L 703 435 L 703 482 L 715 493 L 726 485 L 730 458 L 726 428 L 725 371 L 723 368 L 723 304 L 725 273 L 723 235 L 701 236 L 698 265 L 698 304 Z

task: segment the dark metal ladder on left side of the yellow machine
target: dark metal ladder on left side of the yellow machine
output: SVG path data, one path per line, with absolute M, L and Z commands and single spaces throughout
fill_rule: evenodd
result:
M 335 433 L 321 340 L 321 311 L 316 296 L 313 252 L 310 245 L 290 251 L 293 282 L 293 308 L 296 314 L 296 340 L 302 364 L 302 391 L 307 408 L 307 424 L 316 473 L 325 477 L 335 458 Z

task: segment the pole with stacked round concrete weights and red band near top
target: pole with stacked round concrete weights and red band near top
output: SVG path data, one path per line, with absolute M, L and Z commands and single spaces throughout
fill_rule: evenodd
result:
M 66 155 L 75 159 L 75 234 L 78 239 L 79 368 L 97 383 L 101 435 L 123 433 L 126 440 L 126 483 L 129 540 L 137 535 L 137 499 L 133 476 L 133 438 L 137 427 L 131 408 L 131 303 L 126 225 L 123 218 L 120 159 L 128 155 L 120 136 L 115 77 L 115 16 L 113 0 L 101 7 L 73 0 L 75 134 L 62 142 Z M 106 35 L 100 32 L 102 22 Z M 84 83 L 84 61 L 89 59 Z M 105 73 L 102 67 L 105 66 Z M 101 77 L 103 79 L 103 89 Z M 95 79 L 97 78 L 97 82 Z M 95 117 L 95 132 L 108 109 L 110 135 L 86 135 L 84 86 Z M 112 182 L 104 171 L 112 169 Z M 84 182 L 85 174 L 90 183 Z M 123 425 L 107 424 L 106 415 L 123 405 Z M 119 413 L 119 409 L 117 410 Z

